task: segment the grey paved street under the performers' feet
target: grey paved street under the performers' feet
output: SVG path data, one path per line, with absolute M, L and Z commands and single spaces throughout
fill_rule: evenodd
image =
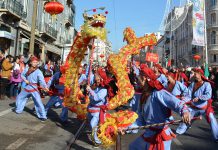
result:
M 46 103 L 47 100 L 44 100 Z M 29 101 L 25 111 L 17 115 L 11 109 L 13 100 L 0 101 L 0 149 L 17 150 L 62 150 L 78 130 L 81 121 L 69 113 L 69 123 L 61 125 L 58 115 L 61 109 L 51 109 L 46 122 L 40 122 L 32 111 L 33 102 Z M 175 129 L 176 125 L 171 126 Z M 87 130 L 81 134 L 72 150 L 94 149 L 87 136 Z M 127 150 L 139 134 L 122 136 L 122 149 Z M 95 148 L 96 149 L 96 148 Z M 100 148 L 98 148 L 100 149 Z M 104 148 L 101 148 L 104 149 Z M 185 135 L 179 135 L 173 140 L 172 150 L 216 150 L 218 143 L 214 143 L 209 125 L 205 119 L 196 121 Z

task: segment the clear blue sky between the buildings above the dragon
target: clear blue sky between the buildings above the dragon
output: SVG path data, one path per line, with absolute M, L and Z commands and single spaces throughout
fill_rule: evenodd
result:
M 118 51 L 125 45 L 123 30 L 126 27 L 132 27 L 138 37 L 158 31 L 166 2 L 167 0 L 74 0 L 76 29 L 83 24 L 82 13 L 85 9 L 106 7 L 109 12 L 106 24 L 107 30 L 110 31 L 108 39 L 112 43 L 113 50 Z

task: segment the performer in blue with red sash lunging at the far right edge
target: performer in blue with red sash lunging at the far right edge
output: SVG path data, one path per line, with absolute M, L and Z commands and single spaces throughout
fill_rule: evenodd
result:
M 212 108 L 212 88 L 209 83 L 211 81 L 204 77 L 204 72 L 201 69 L 195 69 L 194 77 L 195 82 L 192 82 L 189 86 L 189 97 L 192 99 L 190 101 L 191 117 L 206 115 L 207 122 L 212 129 L 213 138 L 215 142 L 218 142 L 218 124 Z M 183 134 L 187 129 L 188 126 L 182 123 L 177 128 L 176 133 Z

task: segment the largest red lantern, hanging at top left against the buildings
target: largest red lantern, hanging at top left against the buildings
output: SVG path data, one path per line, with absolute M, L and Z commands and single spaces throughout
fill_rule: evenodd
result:
M 44 9 L 50 15 L 57 15 L 63 12 L 64 6 L 59 2 L 48 2 L 45 4 Z

